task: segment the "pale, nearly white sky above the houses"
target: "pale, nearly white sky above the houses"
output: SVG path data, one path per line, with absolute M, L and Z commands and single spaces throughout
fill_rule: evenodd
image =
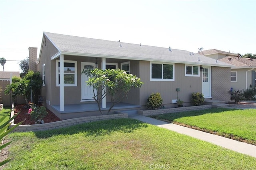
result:
M 0 57 L 22 60 L 43 32 L 256 53 L 254 0 L 0 0 Z M 5 71 L 20 71 L 7 61 Z M 0 67 L 0 71 L 3 68 Z

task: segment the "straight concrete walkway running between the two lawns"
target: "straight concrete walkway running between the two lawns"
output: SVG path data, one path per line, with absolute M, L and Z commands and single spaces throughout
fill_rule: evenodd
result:
M 237 140 L 232 140 L 229 138 L 224 138 L 222 136 L 202 132 L 199 130 L 195 130 L 192 128 L 182 127 L 180 125 L 167 123 L 164 121 L 159 121 L 156 119 L 152 119 L 150 117 L 145 117 L 142 115 L 137 115 L 137 111 L 126 111 L 128 113 L 128 117 L 131 119 L 137 119 L 139 121 L 149 123 L 151 125 L 156 125 L 158 127 L 167 128 L 168 130 L 172 130 L 181 134 L 186 134 L 188 136 L 198 138 L 200 140 L 204 140 L 207 142 L 211 142 L 218 146 L 222 146 L 223 148 L 227 148 L 230 150 L 234 150 L 236 152 L 247 154 L 256 158 L 256 146 L 252 144 L 247 144 L 244 142 L 239 142 Z

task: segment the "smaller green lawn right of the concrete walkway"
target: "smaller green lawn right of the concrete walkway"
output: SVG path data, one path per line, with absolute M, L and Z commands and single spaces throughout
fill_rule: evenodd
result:
M 174 121 L 212 130 L 223 136 L 243 138 L 256 144 L 256 109 L 206 109 L 152 116 L 156 119 Z

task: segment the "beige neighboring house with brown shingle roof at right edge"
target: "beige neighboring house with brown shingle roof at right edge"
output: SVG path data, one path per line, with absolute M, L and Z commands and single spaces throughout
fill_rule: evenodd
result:
M 235 56 L 227 56 L 219 59 L 225 63 L 234 65 L 231 68 L 231 88 L 234 90 L 246 90 L 255 86 L 255 71 L 256 71 L 256 59 L 242 58 Z

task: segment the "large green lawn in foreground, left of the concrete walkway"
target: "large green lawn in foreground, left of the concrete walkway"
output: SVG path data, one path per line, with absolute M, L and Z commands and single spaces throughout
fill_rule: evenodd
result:
M 9 135 L 6 169 L 256 169 L 256 158 L 134 119 Z

